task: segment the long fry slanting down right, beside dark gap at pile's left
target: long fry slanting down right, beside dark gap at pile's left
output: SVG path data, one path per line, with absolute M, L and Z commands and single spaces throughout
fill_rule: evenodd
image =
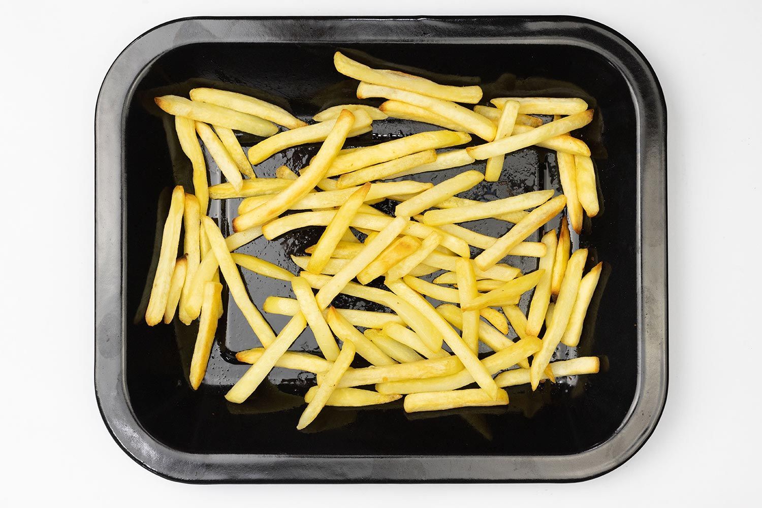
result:
M 226 244 L 223 234 L 219 231 L 219 228 L 209 217 L 203 217 L 201 219 L 203 227 L 207 232 L 207 238 L 209 238 L 212 245 L 212 251 L 214 257 L 217 259 L 219 269 L 223 272 L 230 294 L 235 300 L 235 304 L 239 306 L 242 314 L 248 321 L 251 330 L 262 343 L 264 347 L 268 347 L 274 340 L 275 334 L 273 333 L 270 324 L 264 321 L 262 315 L 259 313 L 257 307 L 251 303 L 251 299 L 248 297 L 246 287 L 244 286 L 241 274 L 238 268 L 235 267 L 235 261 L 230 255 L 230 251 Z

